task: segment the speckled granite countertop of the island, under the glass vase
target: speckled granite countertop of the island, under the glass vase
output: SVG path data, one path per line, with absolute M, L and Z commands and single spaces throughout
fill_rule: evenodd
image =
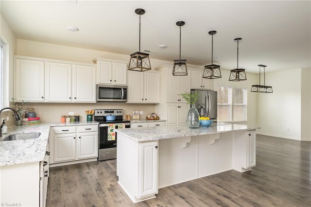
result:
M 157 126 L 157 127 L 143 127 L 143 128 L 123 128 L 116 129 L 117 133 L 124 135 L 127 138 L 131 138 L 134 141 L 152 141 L 165 138 L 179 138 L 179 137 L 190 137 L 207 134 L 217 134 L 233 131 L 245 131 L 255 130 L 255 127 L 235 124 L 216 122 L 212 123 L 210 127 L 197 129 L 190 129 L 186 124 L 178 126 Z

